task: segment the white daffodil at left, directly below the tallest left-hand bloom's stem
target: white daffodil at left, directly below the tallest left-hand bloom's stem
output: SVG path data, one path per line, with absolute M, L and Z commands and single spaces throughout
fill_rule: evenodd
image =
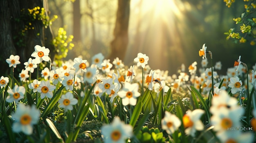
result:
M 52 91 L 55 88 L 56 87 L 54 85 L 50 84 L 50 81 L 41 81 L 40 86 L 38 86 L 36 90 L 37 92 L 40 93 L 41 99 L 44 99 L 45 97 L 52 98 L 53 97 Z

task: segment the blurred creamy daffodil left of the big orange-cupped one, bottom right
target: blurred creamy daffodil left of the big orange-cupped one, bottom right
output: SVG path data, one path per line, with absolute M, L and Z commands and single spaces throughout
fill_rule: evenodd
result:
M 164 118 L 161 121 L 162 129 L 166 130 L 168 134 L 173 134 L 175 130 L 178 130 L 181 121 L 180 119 L 175 115 L 171 114 L 168 111 L 165 111 Z

